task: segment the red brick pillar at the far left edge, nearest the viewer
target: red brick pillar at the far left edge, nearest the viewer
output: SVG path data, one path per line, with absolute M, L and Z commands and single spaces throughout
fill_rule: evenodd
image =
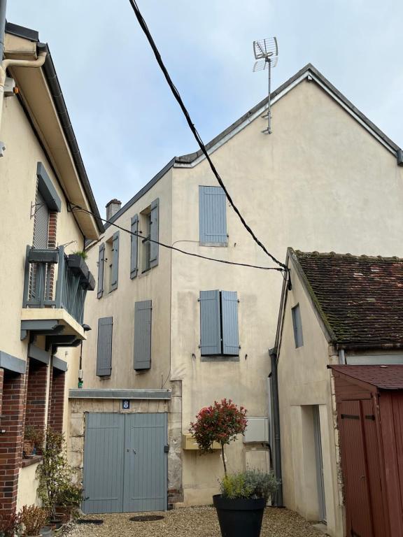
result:
M 25 375 L 5 374 L 0 435 L 0 513 L 15 511 L 22 461 Z

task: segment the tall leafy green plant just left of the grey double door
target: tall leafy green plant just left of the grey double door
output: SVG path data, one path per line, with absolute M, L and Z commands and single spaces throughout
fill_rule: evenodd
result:
M 36 468 L 38 496 L 42 506 L 48 511 L 49 522 L 61 525 L 62 518 L 56 515 L 57 499 L 71 482 L 71 467 L 67 462 L 64 435 L 53 429 L 46 429 L 42 452 L 42 464 Z

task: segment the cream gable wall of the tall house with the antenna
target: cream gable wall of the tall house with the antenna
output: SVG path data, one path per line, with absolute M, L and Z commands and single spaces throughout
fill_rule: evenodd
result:
M 262 134 L 265 120 L 258 117 L 212 155 L 236 206 L 268 250 L 281 261 L 288 245 L 306 251 L 402 255 L 403 169 L 395 156 L 316 83 L 297 85 L 274 103 L 272 113 L 273 134 Z M 173 243 L 208 257 L 275 266 L 228 204 L 227 247 L 199 245 L 199 185 L 217 182 L 206 160 L 179 166 L 172 182 Z M 172 254 L 171 378 L 183 381 L 184 432 L 200 408 L 224 396 L 245 406 L 249 415 L 267 415 L 268 349 L 274 346 L 282 282 L 276 271 Z M 210 289 L 238 292 L 239 361 L 201 361 L 197 299 L 200 290 Z M 318 359 L 323 356 L 326 348 Z M 313 382 L 306 371 L 298 371 L 302 378 L 295 389 L 310 393 L 316 403 L 320 395 L 325 404 L 327 376 Z M 241 469 L 243 447 L 236 449 L 233 468 Z M 194 456 L 185 455 L 185 501 L 204 497 L 200 487 L 216 490 L 220 471 L 213 456 L 211 461 L 210 477 L 204 474 L 201 485 Z

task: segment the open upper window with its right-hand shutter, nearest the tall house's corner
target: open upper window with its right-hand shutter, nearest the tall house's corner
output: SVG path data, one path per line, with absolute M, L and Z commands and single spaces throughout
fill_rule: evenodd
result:
M 141 234 L 141 266 L 142 271 L 149 271 L 158 264 L 159 240 L 159 200 L 155 199 L 140 215 Z

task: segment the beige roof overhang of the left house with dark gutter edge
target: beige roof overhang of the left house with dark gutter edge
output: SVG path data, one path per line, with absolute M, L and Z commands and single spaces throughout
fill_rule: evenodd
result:
M 36 33 L 29 29 L 7 25 L 4 48 L 6 58 L 34 60 L 38 48 L 47 52 L 43 67 L 29 69 L 13 66 L 10 67 L 10 75 L 20 90 L 22 105 L 64 190 L 66 201 L 99 216 L 48 45 L 34 41 L 34 34 Z M 85 237 L 99 237 L 100 231 L 104 229 L 100 220 L 87 213 L 76 212 L 75 216 Z

